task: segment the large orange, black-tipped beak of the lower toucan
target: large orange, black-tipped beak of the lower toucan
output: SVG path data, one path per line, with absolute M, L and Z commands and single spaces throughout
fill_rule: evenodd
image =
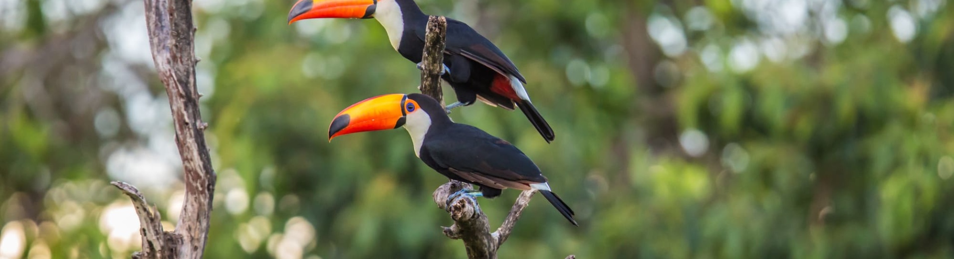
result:
M 405 94 L 385 94 L 367 98 L 339 112 L 328 129 L 328 141 L 350 133 L 391 130 L 404 126 Z

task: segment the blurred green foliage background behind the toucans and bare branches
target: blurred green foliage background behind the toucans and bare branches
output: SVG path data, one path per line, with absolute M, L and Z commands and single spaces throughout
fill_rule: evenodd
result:
M 451 117 L 523 149 L 537 196 L 501 258 L 954 258 L 954 3 L 419 0 L 528 78 L 519 111 Z M 218 172 L 208 258 L 465 258 L 404 130 L 327 141 L 418 70 L 373 20 L 286 24 L 291 0 L 196 0 Z M 454 98 L 446 89 L 446 97 Z M 0 0 L 0 258 L 128 258 L 143 189 L 183 186 L 136 0 Z M 499 226 L 518 191 L 481 199 Z

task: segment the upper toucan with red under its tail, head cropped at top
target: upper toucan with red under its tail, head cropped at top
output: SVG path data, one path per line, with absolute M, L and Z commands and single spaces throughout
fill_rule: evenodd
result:
M 300 0 L 288 13 L 289 24 L 314 18 L 375 18 L 387 31 L 391 47 L 421 68 L 428 15 L 413 0 Z M 553 141 L 553 129 L 524 90 L 527 80 L 497 46 L 467 24 L 447 19 L 444 52 L 442 78 L 457 94 L 448 111 L 476 100 L 507 110 L 516 106 L 547 143 Z

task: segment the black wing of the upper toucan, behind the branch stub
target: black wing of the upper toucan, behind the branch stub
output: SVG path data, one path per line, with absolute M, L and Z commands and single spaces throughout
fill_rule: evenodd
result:
M 422 41 L 425 41 L 423 32 L 417 34 Z M 516 76 L 520 82 L 527 84 L 527 79 L 524 79 L 520 70 L 517 70 L 517 66 L 513 65 L 503 51 L 497 49 L 497 46 L 487 40 L 484 35 L 461 21 L 447 19 L 447 42 L 444 51 L 465 56 L 500 74 Z

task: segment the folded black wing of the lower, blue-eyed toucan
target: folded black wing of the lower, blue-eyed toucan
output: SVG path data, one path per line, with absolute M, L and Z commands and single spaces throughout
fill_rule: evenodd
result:
M 533 161 L 507 141 L 463 124 L 447 134 L 452 135 L 425 141 L 427 155 L 462 178 L 497 189 L 547 182 Z

